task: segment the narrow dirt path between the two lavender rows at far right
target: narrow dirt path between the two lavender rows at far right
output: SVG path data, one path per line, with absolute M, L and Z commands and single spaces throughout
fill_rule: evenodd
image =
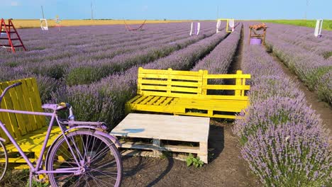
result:
M 313 91 L 309 91 L 308 87 L 304 85 L 304 83 L 299 79 L 299 77 L 297 77 L 296 74 L 294 74 L 288 69 L 288 67 L 284 64 L 284 62 L 282 62 L 282 60 L 276 57 L 272 52 L 269 53 L 273 57 L 275 62 L 278 62 L 281 65 L 284 73 L 287 74 L 291 79 L 293 79 L 293 81 L 299 84 L 299 89 L 304 92 L 306 102 L 311 105 L 311 108 L 313 108 L 317 114 L 321 115 L 321 119 L 326 125 L 326 128 L 328 128 L 332 132 L 332 109 L 330 106 L 328 106 L 328 103 L 321 101 L 318 98 L 317 94 Z

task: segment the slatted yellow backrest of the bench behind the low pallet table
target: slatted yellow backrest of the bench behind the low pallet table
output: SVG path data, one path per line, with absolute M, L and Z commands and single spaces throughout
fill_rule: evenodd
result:
M 209 79 L 235 79 L 234 85 L 209 84 Z M 172 69 L 138 68 L 138 94 L 144 96 L 170 96 L 184 98 L 248 100 L 245 85 L 250 74 L 208 74 L 207 70 L 175 71 Z M 233 95 L 210 94 L 209 90 L 233 90 Z

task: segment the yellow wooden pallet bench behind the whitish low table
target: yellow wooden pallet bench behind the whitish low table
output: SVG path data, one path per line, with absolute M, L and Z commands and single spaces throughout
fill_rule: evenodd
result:
M 211 84 L 220 79 L 234 79 L 233 85 Z M 208 74 L 175 71 L 172 69 L 138 69 L 138 96 L 126 103 L 126 113 L 150 111 L 173 113 L 175 115 L 195 115 L 210 118 L 235 119 L 248 106 L 245 91 L 250 89 L 245 80 L 250 74 Z M 216 94 L 232 91 L 232 94 Z

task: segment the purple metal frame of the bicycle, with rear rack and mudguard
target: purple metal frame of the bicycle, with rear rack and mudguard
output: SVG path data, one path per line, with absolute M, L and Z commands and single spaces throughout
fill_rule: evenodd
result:
M 30 161 L 30 159 L 28 159 L 28 157 L 26 156 L 26 154 L 23 152 L 23 150 L 21 149 L 21 147 L 18 145 L 18 143 L 16 142 L 16 140 L 14 139 L 14 137 L 11 135 L 11 133 L 9 132 L 9 130 L 7 130 L 6 126 L 4 125 L 4 123 L 1 122 L 0 120 L 0 127 L 2 130 L 4 130 L 5 134 L 7 135 L 7 137 L 9 137 L 9 140 L 11 141 L 11 143 L 16 147 L 16 149 L 18 149 L 18 152 L 21 154 L 21 156 L 23 157 L 23 159 L 26 161 L 26 163 L 28 164 L 29 168 L 31 169 L 31 171 L 35 174 L 55 174 L 55 173 L 76 173 L 79 168 L 72 168 L 72 169 L 67 169 L 67 171 L 65 170 L 61 170 L 61 171 L 47 171 L 44 169 L 40 169 L 40 166 L 42 164 L 42 160 L 43 160 L 43 154 L 45 153 L 45 148 L 47 147 L 47 143 L 48 140 L 50 138 L 50 132 L 52 131 L 52 127 L 53 127 L 53 123 L 55 122 L 55 120 L 57 120 L 57 124 L 59 125 L 59 127 L 61 128 L 61 132 L 63 137 L 65 138 L 65 141 L 67 142 L 68 145 L 70 145 L 69 141 L 67 140 L 67 137 L 65 135 L 65 132 L 68 132 L 70 130 L 73 129 L 77 129 L 77 128 L 89 128 L 89 129 L 96 129 L 96 125 L 99 123 L 96 122 L 82 122 L 82 121 L 69 121 L 68 124 L 75 124 L 78 126 L 75 127 L 70 127 L 67 130 L 63 130 L 61 123 L 59 122 L 58 118 L 57 118 L 57 111 L 53 110 L 52 113 L 45 113 L 45 112 L 31 112 L 31 111 L 16 111 L 16 110 L 9 110 L 9 109 L 1 109 L 0 108 L 0 113 L 4 112 L 4 113 L 20 113 L 20 114 L 27 114 L 27 115 L 44 115 L 44 116 L 48 116 L 51 117 L 50 120 L 50 124 L 48 126 L 48 131 L 46 133 L 45 136 L 45 140 L 43 142 L 43 147 L 41 149 L 40 155 L 38 157 L 36 166 L 33 166 L 33 163 Z M 108 137 L 112 142 L 114 142 L 115 145 L 119 146 L 118 141 L 116 140 L 116 137 L 113 137 L 109 134 L 106 134 L 105 132 L 101 132 L 99 130 L 96 130 L 96 133 L 99 135 L 102 135 L 104 137 Z M 59 135 L 59 137 L 61 137 L 62 135 Z M 59 138 L 57 137 L 57 139 Z M 56 140 L 57 140 L 56 139 Z M 79 166 L 79 159 L 77 159 L 77 156 L 74 154 L 72 147 L 70 147 L 70 152 L 72 153 L 75 162 L 77 162 L 77 166 Z M 75 146 L 75 148 L 77 148 Z

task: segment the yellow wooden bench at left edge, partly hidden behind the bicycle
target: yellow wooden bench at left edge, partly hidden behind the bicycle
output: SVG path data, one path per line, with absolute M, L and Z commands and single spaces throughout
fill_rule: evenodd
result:
M 9 89 L 9 92 L 4 96 L 4 100 L 1 102 L 1 108 L 43 112 L 37 82 L 33 78 L 2 82 L 0 83 L 1 93 L 7 86 L 18 81 L 22 82 L 21 86 Z M 48 126 L 46 126 L 48 123 L 45 116 L 0 113 L 0 120 L 6 125 L 11 135 L 15 137 L 18 145 L 21 146 L 23 152 L 27 154 L 29 159 L 31 159 L 32 162 L 37 160 L 48 128 Z M 50 146 L 59 133 L 60 128 L 58 127 L 52 130 L 48 146 Z M 0 136 L 6 140 L 6 149 L 9 152 L 9 163 L 26 163 L 1 128 Z

